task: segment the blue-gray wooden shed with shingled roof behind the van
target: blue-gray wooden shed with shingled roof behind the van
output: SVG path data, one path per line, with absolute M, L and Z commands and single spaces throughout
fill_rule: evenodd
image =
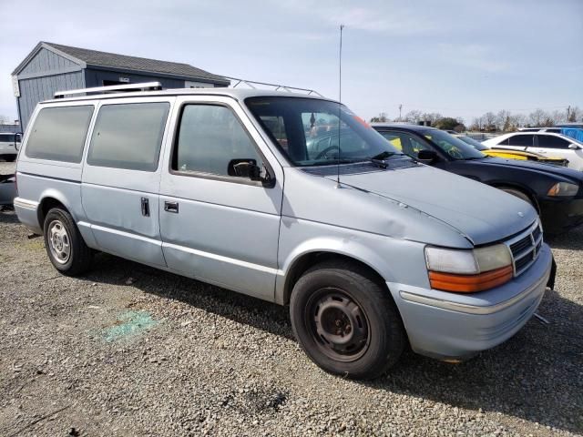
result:
M 164 88 L 229 86 L 230 81 L 189 64 L 116 55 L 40 42 L 12 73 L 22 129 L 38 102 L 56 91 L 157 81 Z

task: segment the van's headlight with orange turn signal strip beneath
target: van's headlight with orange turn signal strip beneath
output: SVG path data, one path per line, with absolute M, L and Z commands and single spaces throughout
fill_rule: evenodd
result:
M 459 250 L 425 248 L 431 288 L 471 293 L 502 285 L 512 279 L 510 250 L 504 244 Z

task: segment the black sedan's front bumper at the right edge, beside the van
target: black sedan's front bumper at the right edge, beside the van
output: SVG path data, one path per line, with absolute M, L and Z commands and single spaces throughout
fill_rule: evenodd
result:
M 545 233 L 559 234 L 583 225 L 583 198 L 539 201 Z

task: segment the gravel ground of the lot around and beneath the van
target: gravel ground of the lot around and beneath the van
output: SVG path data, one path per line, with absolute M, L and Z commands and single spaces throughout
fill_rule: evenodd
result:
M 66 278 L 27 234 L 0 212 L 0 435 L 583 432 L 583 229 L 549 241 L 549 324 L 458 365 L 409 352 L 373 382 L 320 371 L 286 308 L 103 254 Z

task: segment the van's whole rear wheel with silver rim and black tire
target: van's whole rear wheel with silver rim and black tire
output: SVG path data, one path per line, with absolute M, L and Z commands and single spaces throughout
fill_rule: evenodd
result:
M 75 220 L 62 208 L 51 208 L 44 223 L 45 247 L 55 269 L 78 276 L 91 267 L 93 250 L 87 247 Z

